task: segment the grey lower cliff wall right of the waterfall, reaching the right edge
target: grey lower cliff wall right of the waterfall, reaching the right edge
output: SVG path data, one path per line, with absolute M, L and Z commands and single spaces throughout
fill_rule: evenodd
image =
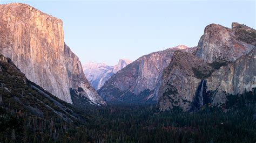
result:
M 214 71 L 206 78 L 206 92 L 212 93 L 212 103 L 226 102 L 227 94 L 242 94 L 256 88 L 256 48 L 249 54 Z

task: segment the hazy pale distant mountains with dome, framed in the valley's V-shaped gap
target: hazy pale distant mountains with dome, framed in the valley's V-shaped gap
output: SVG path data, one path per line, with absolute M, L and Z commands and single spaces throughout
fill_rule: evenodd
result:
M 107 66 L 105 63 L 89 62 L 83 65 L 84 74 L 95 89 L 103 87 L 109 78 L 123 69 L 132 61 L 120 59 L 116 66 Z

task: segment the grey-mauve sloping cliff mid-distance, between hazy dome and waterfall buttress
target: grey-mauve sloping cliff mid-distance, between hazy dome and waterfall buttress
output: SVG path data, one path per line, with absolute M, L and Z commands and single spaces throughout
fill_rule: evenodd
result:
M 163 69 L 169 64 L 174 51 L 186 50 L 180 45 L 144 55 L 130 63 L 105 82 L 99 94 L 106 102 L 156 101 L 155 90 Z

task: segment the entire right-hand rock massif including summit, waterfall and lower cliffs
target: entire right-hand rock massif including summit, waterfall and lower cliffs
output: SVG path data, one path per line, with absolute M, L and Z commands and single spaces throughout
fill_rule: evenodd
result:
M 208 25 L 196 50 L 175 52 L 164 69 L 158 108 L 196 110 L 255 88 L 255 38 L 255 30 L 238 23 Z

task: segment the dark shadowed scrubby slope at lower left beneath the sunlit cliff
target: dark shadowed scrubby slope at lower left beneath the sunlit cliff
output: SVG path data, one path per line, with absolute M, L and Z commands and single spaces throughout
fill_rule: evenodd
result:
M 72 105 L 29 81 L 11 59 L 3 55 L 0 55 L 0 93 L 1 106 L 8 105 L 9 108 L 3 108 L 9 109 L 8 113 L 14 111 L 15 113 L 16 111 L 28 113 L 26 117 L 19 116 L 19 118 L 40 117 L 44 120 L 51 119 L 51 121 L 58 118 L 59 121 L 69 123 L 84 121 Z M 1 114 L 3 115 L 3 111 Z

